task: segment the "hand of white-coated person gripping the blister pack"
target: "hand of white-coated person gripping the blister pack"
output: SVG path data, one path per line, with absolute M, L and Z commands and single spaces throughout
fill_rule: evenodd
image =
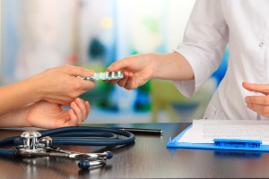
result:
M 106 72 L 124 72 L 124 78 L 109 81 L 112 85 L 134 90 L 152 79 L 153 63 L 149 55 L 131 55 L 117 62 L 110 64 Z M 106 81 L 107 82 L 107 81 Z

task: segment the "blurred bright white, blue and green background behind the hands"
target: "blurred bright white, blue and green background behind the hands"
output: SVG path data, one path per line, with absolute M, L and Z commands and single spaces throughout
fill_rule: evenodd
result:
M 195 0 L 2 0 L 1 85 L 62 64 L 104 72 L 137 53 L 172 52 L 182 41 Z M 190 122 L 200 118 L 221 81 L 229 53 L 193 98 L 171 81 L 137 90 L 98 81 L 86 123 Z

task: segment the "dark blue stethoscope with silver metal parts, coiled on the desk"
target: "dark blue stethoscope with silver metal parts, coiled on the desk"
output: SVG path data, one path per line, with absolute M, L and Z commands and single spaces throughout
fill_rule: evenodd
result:
M 102 166 L 107 159 L 113 157 L 112 152 L 80 153 L 60 148 L 58 145 L 85 146 L 116 146 L 134 142 L 134 134 L 115 128 L 106 127 L 63 127 L 43 132 L 22 132 L 21 136 L 14 136 L 0 140 L 0 145 L 15 145 L 14 149 L 0 149 L 0 156 L 4 157 L 64 157 L 80 160 L 78 166 L 88 169 L 91 166 Z

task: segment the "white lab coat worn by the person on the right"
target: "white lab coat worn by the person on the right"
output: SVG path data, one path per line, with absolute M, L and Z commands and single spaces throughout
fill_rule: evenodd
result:
M 228 42 L 228 69 L 204 118 L 267 119 L 246 107 L 246 96 L 262 94 L 245 90 L 242 82 L 269 83 L 269 0 L 197 0 L 175 49 L 191 64 L 195 80 L 175 85 L 191 97 L 221 64 Z

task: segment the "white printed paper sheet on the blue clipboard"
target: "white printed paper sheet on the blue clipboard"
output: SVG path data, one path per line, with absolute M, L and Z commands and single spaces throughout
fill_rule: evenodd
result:
M 194 120 L 178 142 L 213 143 L 213 139 L 259 140 L 269 145 L 269 121 Z

